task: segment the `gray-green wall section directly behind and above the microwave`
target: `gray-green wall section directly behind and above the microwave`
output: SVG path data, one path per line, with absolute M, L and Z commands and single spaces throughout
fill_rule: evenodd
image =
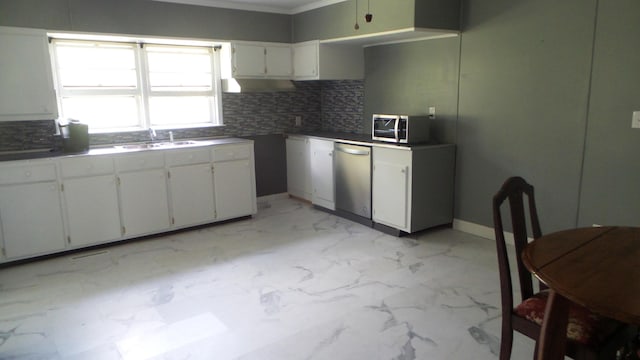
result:
M 460 38 L 365 48 L 364 132 L 373 114 L 426 115 L 436 107 L 432 138 L 456 142 Z

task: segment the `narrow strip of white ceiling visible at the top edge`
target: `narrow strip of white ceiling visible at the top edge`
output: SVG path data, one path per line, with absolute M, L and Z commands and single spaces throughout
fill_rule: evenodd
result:
M 346 0 L 154 0 L 228 9 L 297 14 Z

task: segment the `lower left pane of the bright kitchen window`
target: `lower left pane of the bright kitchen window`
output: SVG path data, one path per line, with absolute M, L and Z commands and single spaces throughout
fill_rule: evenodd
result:
M 89 131 L 139 127 L 135 96 L 74 96 L 62 98 L 64 117 L 89 124 Z

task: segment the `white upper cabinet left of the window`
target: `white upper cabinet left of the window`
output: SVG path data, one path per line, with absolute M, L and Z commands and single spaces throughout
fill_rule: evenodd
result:
M 47 33 L 0 26 L 0 121 L 58 117 Z

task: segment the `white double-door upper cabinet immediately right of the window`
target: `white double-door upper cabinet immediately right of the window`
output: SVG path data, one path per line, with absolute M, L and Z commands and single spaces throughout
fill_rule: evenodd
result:
M 223 78 L 290 79 L 293 76 L 289 44 L 232 43 L 227 51 L 230 54 L 223 48 Z

